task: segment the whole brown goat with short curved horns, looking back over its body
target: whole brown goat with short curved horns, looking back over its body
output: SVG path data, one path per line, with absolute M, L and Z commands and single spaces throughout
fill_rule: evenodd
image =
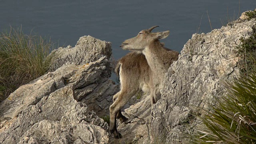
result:
M 123 57 L 116 67 L 116 70 L 120 68 L 121 91 L 113 97 L 114 103 L 110 106 L 109 127 L 110 132 L 113 133 L 116 138 L 120 138 L 119 136 L 121 135 L 116 128 L 116 118 L 119 118 L 121 122 L 128 120 L 121 114 L 120 108 L 138 91 L 138 83 L 143 83 L 150 89 L 151 106 L 153 106 L 160 98 L 162 82 L 168 68 L 174 61 L 178 60 L 179 53 L 165 48 L 159 41 L 159 39 L 166 38 L 170 34 L 170 31 L 151 33 L 156 27 L 158 26 L 140 31 L 136 37 L 125 40 L 120 46 L 124 50 L 133 51 L 132 54 L 135 57 L 131 57 L 130 59 L 126 58 L 126 56 Z M 140 68 L 142 65 L 139 63 L 142 59 L 139 60 L 136 58 L 136 52 L 140 56 L 142 54 L 145 56 L 143 57 L 145 58 L 143 59 L 144 68 Z M 146 62 L 144 62 L 144 60 L 146 60 Z M 132 64 L 132 66 L 122 64 L 122 62 L 129 65 Z M 146 74 L 146 71 L 145 74 L 140 73 L 139 71 L 142 69 L 148 69 L 148 73 Z M 146 79 L 148 81 L 146 81 Z M 127 86 L 132 86 L 129 87 L 130 91 L 127 91 Z M 143 86 L 140 85 L 139 88 L 142 87 Z

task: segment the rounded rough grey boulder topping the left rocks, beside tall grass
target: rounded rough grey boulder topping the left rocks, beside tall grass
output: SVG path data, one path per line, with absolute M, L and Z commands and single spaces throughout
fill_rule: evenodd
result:
M 57 54 L 57 58 L 52 62 L 51 71 L 60 68 L 66 63 L 83 65 L 94 62 L 102 56 L 107 56 L 107 59 L 110 60 L 110 66 L 104 72 L 104 77 L 109 78 L 111 76 L 110 71 L 113 70 L 114 58 L 112 57 L 110 42 L 101 41 L 92 36 L 82 36 L 74 48 L 71 46 L 67 46 L 66 48 L 60 47 L 57 50 L 53 50 L 53 53 Z

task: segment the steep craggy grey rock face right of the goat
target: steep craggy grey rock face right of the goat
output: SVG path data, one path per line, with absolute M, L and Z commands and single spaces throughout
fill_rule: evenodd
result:
M 239 76 L 235 46 L 239 38 L 249 37 L 256 21 L 236 21 L 207 34 L 194 34 L 184 45 L 178 61 L 169 68 L 164 80 L 162 98 L 153 107 L 152 134 L 163 136 L 169 143 L 185 143 L 179 139 L 192 133 L 198 122 L 191 114 L 194 106 L 207 108 L 214 104 L 212 96 L 226 92 L 221 80 Z

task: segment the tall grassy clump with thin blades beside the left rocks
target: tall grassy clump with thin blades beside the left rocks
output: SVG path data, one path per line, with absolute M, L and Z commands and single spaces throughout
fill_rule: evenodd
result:
M 0 102 L 19 86 L 45 74 L 56 54 L 54 43 L 10 27 L 0 33 Z M 50 54 L 50 55 L 49 55 Z

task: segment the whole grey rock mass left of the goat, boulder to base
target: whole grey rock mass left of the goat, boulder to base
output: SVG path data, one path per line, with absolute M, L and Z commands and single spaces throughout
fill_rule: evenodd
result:
M 20 86 L 0 104 L 0 143 L 107 143 L 108 124 L 98 116 L 108 115 L 119 89 L 108 79 L 110 46 L 84 36 L 75 48 L 56 50 L 55 71 Z M 93 50 L 97 54 L 89 56 Z

